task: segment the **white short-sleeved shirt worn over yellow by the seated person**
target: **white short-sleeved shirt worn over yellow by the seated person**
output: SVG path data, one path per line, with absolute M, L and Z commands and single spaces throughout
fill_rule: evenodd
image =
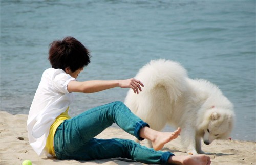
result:
M 73 101 L 73 93 L 67 88 L 72 80 L 76 79 L 62 69 L 49 68 L 42 74 L 27 123 L 29 143 L 39 156 L 47 154 L 45 146 L 50 126 Z

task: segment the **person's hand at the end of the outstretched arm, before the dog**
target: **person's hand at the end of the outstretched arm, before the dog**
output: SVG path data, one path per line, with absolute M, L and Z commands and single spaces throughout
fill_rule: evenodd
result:
M 139 93 L 139 91 L 142 91 L 141 86 L 144 87 L 142 82 L 140 82 L 139 80 L 136 80 L 135 78 L 120 80 L 119 86 L 121 88 L 132 88 L 134 93 L 137 93 L 137 94 Z

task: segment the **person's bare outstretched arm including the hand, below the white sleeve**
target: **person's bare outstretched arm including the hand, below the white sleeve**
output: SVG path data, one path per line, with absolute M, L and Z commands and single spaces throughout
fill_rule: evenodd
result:
M 114 87 L 132 88 L 134 93 L 139 93 L 141 86 L 144 86 L 139 80 L 134 78 L 126 80 L 90 80 L 90 81 L 70 81 L 68 84 L 69 92 L 94 93 Z

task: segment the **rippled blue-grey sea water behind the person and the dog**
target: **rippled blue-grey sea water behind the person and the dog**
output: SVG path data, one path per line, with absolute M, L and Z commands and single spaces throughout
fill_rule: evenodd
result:
M 256 140 L 255 1 L 1 0 L 0 7 L 1 110 L 28 114 L 50 67 L 49 44 L 73 36 L 92 55 L 79 81 L 131 78 L 152 59 L 174 60 L 234 104 L 233 139 Z M 76 93 L 70 113 L 124 101 L 127 90 Z

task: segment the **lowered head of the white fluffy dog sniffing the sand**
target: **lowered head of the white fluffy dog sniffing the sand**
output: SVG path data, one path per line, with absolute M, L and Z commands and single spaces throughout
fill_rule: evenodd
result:
M 234 113 L 227 109 L 212 108 L 209 113 L 208 124 L 204 127 L 203 140 L 209 145 L 215 139 L 226 139 L 232 131 Z

